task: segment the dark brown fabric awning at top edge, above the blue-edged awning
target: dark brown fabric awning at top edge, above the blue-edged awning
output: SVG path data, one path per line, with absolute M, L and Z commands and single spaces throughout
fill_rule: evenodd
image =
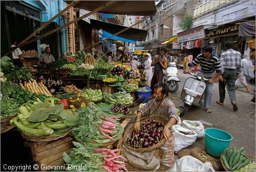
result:
M 73 1 L 65 1 L 70 4 Z M 93 11 L 109 1 L 79 1 L 76 8 Z M 121 15 L 155 16 L 157 12 L 155 1 L 117 1 L 99 12 Z

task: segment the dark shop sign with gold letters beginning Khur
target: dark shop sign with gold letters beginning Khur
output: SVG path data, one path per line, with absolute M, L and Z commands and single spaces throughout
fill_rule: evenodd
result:
M 236 25 L 231 26 L 231 27 L 225 27 L 225 28 L 220 27 L 220 28 L 216 28 L 216 29 L 212 29 L 212 30 L 207 31 L 207 37 L 230 34 L 230 33 L 238 32 L 238 30 L 239 30 L 239 24 L 236 24 Z

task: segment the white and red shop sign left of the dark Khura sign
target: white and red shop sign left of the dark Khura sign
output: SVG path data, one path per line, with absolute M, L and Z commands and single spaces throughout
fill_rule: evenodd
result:
M 178 42 L 186 42 L 204 38 L 204 28 L 194 28 L 186 32 L 178 33 Z

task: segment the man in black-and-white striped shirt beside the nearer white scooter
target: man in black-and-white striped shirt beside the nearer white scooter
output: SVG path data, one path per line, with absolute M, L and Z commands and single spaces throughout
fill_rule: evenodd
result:
M 198 72 L 203 73 L 204 77 L 209 79 L 204 92 L 204 109 L 207 113 L 211 113 L 212 87 L 214 86 L 214 80 L 221 73 L 220 59 L 216 54 L 212 53 L 212 47 L 206 45 L 202 47 L 202 54 L 198 55 L 192 64 L 194 66 L 200 64 L 201 68 Z M 189 69 L 190 67 L 187 70 Z

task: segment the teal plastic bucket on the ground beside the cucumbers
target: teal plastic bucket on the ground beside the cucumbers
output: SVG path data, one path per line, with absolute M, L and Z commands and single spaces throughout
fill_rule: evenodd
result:
M 220 157 L 233 139 L 228 132 L 220 129 L 209 128 L 204 132 L 206 152 L 215 157 Z

